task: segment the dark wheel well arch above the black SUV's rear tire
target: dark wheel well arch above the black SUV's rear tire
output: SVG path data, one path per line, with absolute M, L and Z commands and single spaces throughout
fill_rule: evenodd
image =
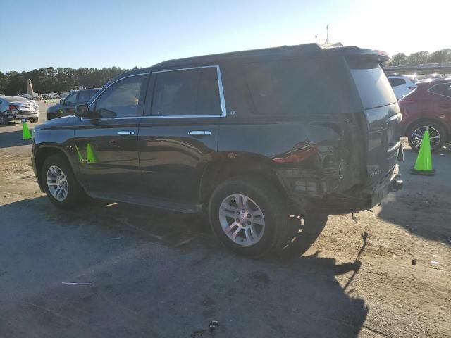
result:
M 237 158 L 222 158 L 207 165 L 202 175 L 199 192 L 202 203 L 208 203 L 218 184 L 230 177 L 240 175 L 262 177 L 265 182 L 273 184 L 285 196 L 285 191 L 276 176 L 271 160 L 259 156 L 240 156 Z

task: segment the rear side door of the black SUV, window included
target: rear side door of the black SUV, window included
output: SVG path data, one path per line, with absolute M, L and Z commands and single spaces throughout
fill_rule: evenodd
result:
M 204 163 L 217 150 L 226 112 L 220 70 L 157 71 L 150 83 L 138 137 L 143 187 L 147 196 L 197 202 Z

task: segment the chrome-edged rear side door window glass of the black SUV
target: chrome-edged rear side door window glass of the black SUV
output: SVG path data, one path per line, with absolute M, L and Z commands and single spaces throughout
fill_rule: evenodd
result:
M 221 115 L 216 68 L 157 73 L 152 115 Z

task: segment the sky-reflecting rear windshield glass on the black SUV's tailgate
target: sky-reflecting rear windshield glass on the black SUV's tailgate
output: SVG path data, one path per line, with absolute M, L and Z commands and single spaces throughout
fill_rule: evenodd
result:
M 376 61 L 350 58 L 347 63 L 364 109 L 387 106 L 396 102 L 390 82 Z

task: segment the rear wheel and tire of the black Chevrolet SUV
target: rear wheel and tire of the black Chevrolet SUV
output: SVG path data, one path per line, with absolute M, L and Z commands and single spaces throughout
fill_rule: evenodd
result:
M 247 197 L 247 206 L 242 196 Z M 283 194 L 268 180 L 250 175 L 232 177 L 216 187 L 209 201 L 209 220 L 211 230 L 223 246 L 250 258 L 279 249 L 288 236 Z M 240 225 L 236 220 L 240 220 Z

